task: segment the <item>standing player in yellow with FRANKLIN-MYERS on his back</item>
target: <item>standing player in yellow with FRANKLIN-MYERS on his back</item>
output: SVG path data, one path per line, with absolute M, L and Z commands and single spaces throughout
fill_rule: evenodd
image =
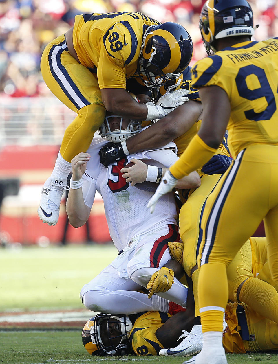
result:
M 228 129 L 235 161 L 208 197 L 201 223 L 198 293 L 204 347 L 188 361 L 226 364 L 221 332 L 226 268 L 262 219 L 272 278 L 278 281 L 278 40 L 251 41 L 253 13 L 245 0 L 206 1 L 199 24 L 207 51 L 215 51 L 192 67 L 203 123 L 149 206 L 210 159 Z

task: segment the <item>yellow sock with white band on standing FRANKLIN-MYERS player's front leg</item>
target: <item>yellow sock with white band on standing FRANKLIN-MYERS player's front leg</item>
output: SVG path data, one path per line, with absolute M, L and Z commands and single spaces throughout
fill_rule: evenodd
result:
M 202 265 L 198 293 L 203 332 L 223 331 L 223 315 L 228 301 L 226 265 L 221 263 Z

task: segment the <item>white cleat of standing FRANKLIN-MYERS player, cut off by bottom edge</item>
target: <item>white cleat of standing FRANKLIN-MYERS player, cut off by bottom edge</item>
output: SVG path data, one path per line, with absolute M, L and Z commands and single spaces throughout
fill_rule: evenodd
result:
M 224 348 L 208 348 L 183 364 L 228 364 Z

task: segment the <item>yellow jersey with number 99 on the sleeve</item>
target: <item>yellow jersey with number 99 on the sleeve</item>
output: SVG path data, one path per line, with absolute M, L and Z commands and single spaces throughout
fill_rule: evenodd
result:
M 126 78 L 137 71 L 142 37 L 158 24 L 139 12 L 77 15 L 73 46 L 80 63 L 97 72 L 99 88 L 126 88 Z

